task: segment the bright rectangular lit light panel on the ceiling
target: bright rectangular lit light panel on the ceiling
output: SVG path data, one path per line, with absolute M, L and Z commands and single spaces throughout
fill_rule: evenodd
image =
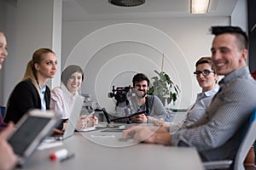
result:
M 190 13 L 206 14 L 209 9 L 210 0 L 190 0 Z

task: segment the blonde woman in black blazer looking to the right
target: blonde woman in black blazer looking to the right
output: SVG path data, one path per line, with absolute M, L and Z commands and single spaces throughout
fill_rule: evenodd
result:
M 26 72 L 9 96 L 4 122 L 18 122 L 30 109 L 49 110 L 50 90 L 46 85 L 57 70 L 55 53 L 39 48 L 26 66 Z

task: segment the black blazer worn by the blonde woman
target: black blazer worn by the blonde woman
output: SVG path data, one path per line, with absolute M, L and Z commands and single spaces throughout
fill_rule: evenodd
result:
M 49 110 L 50 90 L 46 86 L 44 93 L 46 110 Z M 41 109 L 41 99 L 31 80 L 19 82 L 9 96 L 4 122 L 18 122 L 30 109 Z

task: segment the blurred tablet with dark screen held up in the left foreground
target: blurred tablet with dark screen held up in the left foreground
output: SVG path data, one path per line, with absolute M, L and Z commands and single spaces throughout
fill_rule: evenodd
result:
M 44 137 L 52 132 L 59 116 L 53 111 L 28 111 L 16 124 L 16 130 L 9 136 L 9 144 L 18 156 L 18 166 L 22 166 L 27 158 L 37 149 Z

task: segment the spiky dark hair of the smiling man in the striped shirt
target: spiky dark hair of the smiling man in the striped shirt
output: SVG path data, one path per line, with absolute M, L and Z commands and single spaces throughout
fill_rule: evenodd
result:
M 242 31 L 238 26 L 212 26 L 212 34 L 215 36 L 221 34 L 234 34 L 236 36 L 237 41 L 240 44 L 240 48 L 248 48 L 248 37 L 245 31 Z

